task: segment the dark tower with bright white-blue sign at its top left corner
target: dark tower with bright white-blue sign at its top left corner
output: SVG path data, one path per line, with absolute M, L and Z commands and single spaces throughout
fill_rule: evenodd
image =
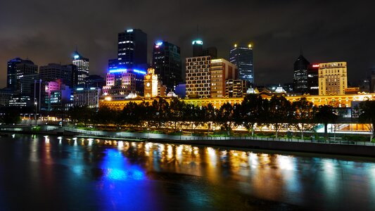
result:
M 179 46 L 167 41 L 158 41 L 153 46 L 152 67 L 158 79 L 167 86 L 168 91 L 182 82 L 181 53 Z

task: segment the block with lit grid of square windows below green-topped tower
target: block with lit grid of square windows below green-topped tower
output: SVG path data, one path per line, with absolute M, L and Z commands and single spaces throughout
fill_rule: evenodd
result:
M 209 98 L 211 96 L 211 56 L 186 58 L 186 96 Z

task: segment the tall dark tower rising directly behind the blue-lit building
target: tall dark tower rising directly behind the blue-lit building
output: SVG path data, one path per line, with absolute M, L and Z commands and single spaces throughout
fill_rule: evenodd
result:
M 119 68 L 146 68 L 147 34 L 138 29 L 118 33 L 117 60 Z

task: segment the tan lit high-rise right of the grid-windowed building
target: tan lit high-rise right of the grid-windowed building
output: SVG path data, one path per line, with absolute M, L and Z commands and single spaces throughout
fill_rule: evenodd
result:
M 225 80 L 236 79 L 237 67 L 223 58 L 210 60 L 211 97 L 221 98 L 225 95 Z

